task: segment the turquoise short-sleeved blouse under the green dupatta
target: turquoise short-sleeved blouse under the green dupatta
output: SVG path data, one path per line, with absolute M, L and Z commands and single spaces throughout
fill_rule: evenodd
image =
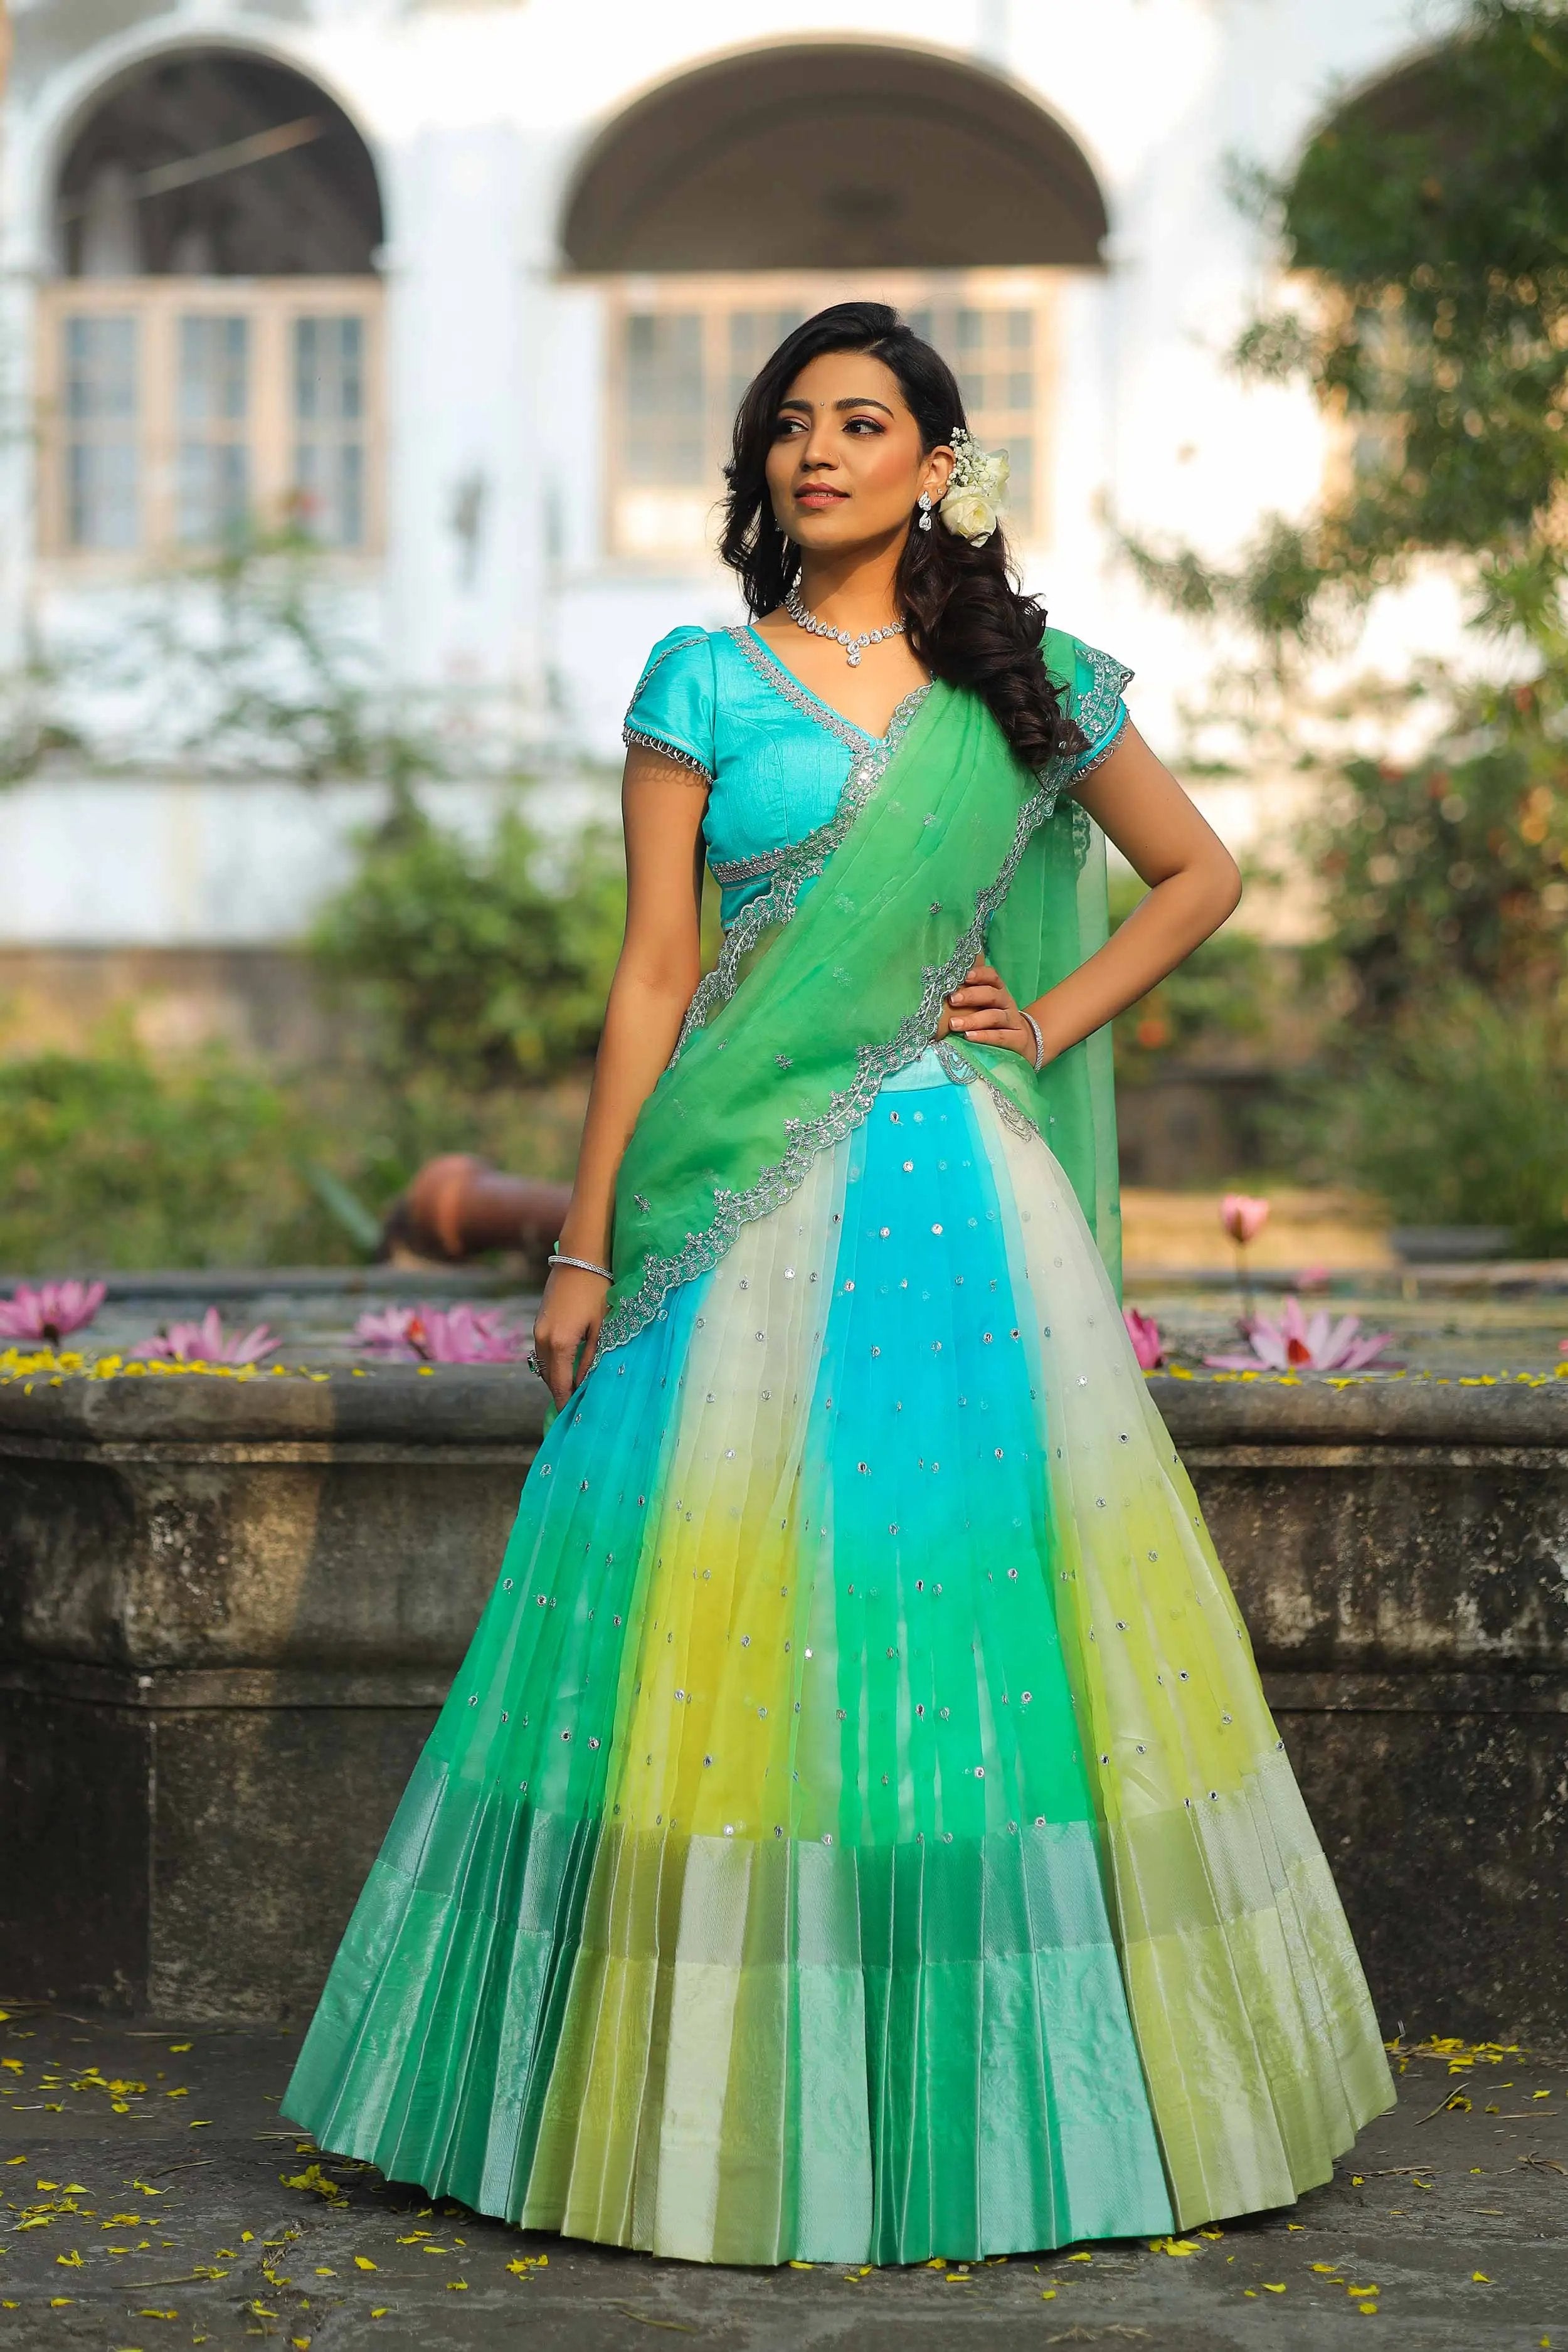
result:
M 1124 680 L 1131 675 L 1114 668 Z M 1074 781 L 1100 764 L 1124 724 L 1126 703 L 1117 696 Z M 827 823 L 851 760 L 875 741 L 802 687 L 755 628 L 672 628 L 661 637 L 637 680 L 623 736 L 708 783 L 703 842 L 726 929 L 769 887 L 780 854 Z

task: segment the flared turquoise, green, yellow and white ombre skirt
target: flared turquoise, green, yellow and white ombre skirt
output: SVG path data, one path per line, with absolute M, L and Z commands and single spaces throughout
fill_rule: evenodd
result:
M 529 2227 L 912 2263 L 1288 2204 L 1389 2103 L 1072 1190 L 926 1054 L 552 1425 L 284 2112 Z

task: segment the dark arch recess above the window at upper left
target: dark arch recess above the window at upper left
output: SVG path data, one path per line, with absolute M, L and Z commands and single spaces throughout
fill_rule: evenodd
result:
M 383 242 L 376 165 L 301 68 L 165 47 L 78 111 L 54 169 L 68 278 L 362 278 Z

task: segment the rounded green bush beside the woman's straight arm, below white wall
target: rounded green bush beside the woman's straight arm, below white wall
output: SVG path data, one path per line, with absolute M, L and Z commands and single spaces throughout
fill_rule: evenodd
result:
M 555 861 L 522 807 L 470 842 L 407 795 L 362 844 L 310 948 L 362 1016 L 374 1073 L 451 1096 L 541 1084 L 592 1054 L 625 889 L 588 830 Z

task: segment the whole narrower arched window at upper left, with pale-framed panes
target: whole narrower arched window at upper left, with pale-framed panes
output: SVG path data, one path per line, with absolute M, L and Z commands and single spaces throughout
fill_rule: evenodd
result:
M 115 82 L 56 183 L 40 303 L 42 543 L 378 543 L 381 195 L 301 73 L 186 49 Z

